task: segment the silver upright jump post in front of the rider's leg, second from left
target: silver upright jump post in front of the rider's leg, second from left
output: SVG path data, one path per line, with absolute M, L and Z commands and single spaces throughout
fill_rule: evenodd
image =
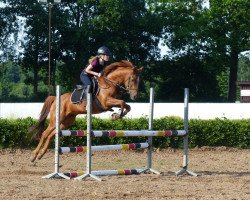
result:
M 89 90 L 88 90 L 89 91 Z M 83 180 L 91 177 L 97 181 L 102 181 L 99 177 L 92 173 L 91 165 L 91 131 L 92 131 L 92 94 L 87 93 L 87 156 L 86 156 L 86 173 L 76 177 L 75 180 Z

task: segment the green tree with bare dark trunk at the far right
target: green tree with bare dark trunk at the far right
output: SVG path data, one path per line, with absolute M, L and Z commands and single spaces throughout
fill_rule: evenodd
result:
M 250 1 L 210 0 L 210 37 L 213 52 L 220 53 L 229 66 L 228 101 L 236 100 L 239 54 L 250 49 Z

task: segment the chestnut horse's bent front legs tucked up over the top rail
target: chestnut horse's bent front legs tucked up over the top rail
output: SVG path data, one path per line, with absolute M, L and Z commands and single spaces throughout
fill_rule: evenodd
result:
M 108 98 L 106 101 L 106 106 L 121 108 L 119 113 L 112 114 L 113 120 L 117 120 L 117 119 L 124 117 L 131 110 L 130 106 L 126 104 L 125 101 L 120 100 L 120 99 L 114 99 L 114 98 Z

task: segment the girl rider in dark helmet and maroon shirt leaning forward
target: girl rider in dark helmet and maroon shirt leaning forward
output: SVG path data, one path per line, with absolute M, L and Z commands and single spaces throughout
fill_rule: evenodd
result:
M 109 61 L 111 55 L 109 49 L 105 46 L 100 47 L 97 50 L 97 56 L 89 59 L 89 65 L 82 71 L 80 79 L 84 87 L 89 88 L 88 93 L 92 91 L 92 77 L 101 77 L 102 70 Z M 89 86 L 89 87 L 88 87 Z

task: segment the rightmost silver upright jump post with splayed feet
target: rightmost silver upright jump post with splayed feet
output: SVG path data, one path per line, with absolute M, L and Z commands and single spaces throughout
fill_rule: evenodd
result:
M 188 174 L 192 176 L 198 176 L 198 174 L 188 170 L 188 102 L 189 102 L 189 89 L 184 90 L 184 130 L 187 133 L 183 137 L 183 164 L 182 169 L 175 172 L 176 176 L 182 174 Z

